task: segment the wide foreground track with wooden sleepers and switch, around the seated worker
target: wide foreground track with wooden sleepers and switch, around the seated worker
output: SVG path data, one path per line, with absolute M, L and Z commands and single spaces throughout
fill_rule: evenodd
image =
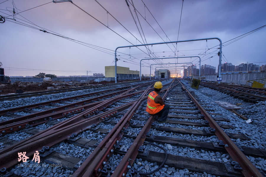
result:
M 262 176 L 263 171 L 260 172 L 245 155 L 265 159 L 266 151 L 237 146 L 232 140 L 249 141 L 250 138 L 239 133 L 224 132 L 234 129 L 227 123 L 230 120 L 217 117 L 219 113 L 213 113 L 214 110 L 206 106 L 207 103 L 197 101 L 197 96 L 179 81 L 165 84 L 160 92 L 171 107 L 168 114 L 170 121 L 158 123 L 156 117 L 145 112 L 147 94 L 153 90 L 150 85 L 142 84 L 139 88 L 124 88 L 121 93 L 111 93 L 113 97 L 98 99 L 88 104 L 90 106 L 84 111 L 74 112 L 67 120 L 45 130 L 33 124 L 32 127 L 24 127 L 19 131 L 33 135 L 0 150 L 2 173 L 14 165 L 8 173 L 20 173 L 18 171 L 21 168 L 16 165 L 17 153 L 27 152 L 31 157 L 35 150 L 39 150 L 41 163 L 64 164 L 65 170 L 51 168 L 53 176 L 60 173 L 112 177 L 166 174 L 206 176 L 205 173 L 207 176 Z M 51 124 L 55 123 L 54 120 L 50 121 Z M 9 123 L 11 126 L 12 121 Z M 5 133 L 5 136 L 12 134 Z M 76 149 L 83 153 L 76 153 Z M 198 158 L 189 156 L 208 152 L 214 154 L 213 158 L 207 155 Z M 218 155 L 223 158 L 215 158 Z M 184 168 L 186 170 L 176 170 Z M 57 173 L 58 169 L 60 173 Z M 36 170 L 31 168 L 31 171 L 34 173 Z M 48 176 L 50 174 L 47 171 L 40 168 L 38 173 Z

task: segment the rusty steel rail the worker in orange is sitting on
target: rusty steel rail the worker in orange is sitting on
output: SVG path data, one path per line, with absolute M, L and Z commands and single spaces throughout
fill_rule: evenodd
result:
M 180 81 L 179 81 L 180 83 Z M 178 83 L 178 84 L 179 84 Z M 166 98 L 166 95 L 168 94 L 168 91 L 177 86 L 178 84 L 174 86 L 170 86 L 168 89 L 166 89 L 166 92 L 163 96 L 163 100 Z M 119 165 L 116 167 L 115 171 L 111 175 L 111 177 L 124 177 L 126 175 L 126 172 L 129 170 L 129 166 L 131 168 L 132 164 L 134 163 L 135 158 L 137 157 L 138 154 L 138 149 L 140 146 L 143 144 L 146 138 L 147 132 L 150 131 L 152 127 L 152 123 L 154 122 L 154 115 L 151 115 L 147 122 L 145 123 L 144 127 L 140 131 L 140 133 L 137 135 L 136 139 L 130 146 L 129 150 L 127 150 L 126 154 L 124 155 L 123 159 L 119 163 Z M 129 166 L 128 166 L 129 165 Z

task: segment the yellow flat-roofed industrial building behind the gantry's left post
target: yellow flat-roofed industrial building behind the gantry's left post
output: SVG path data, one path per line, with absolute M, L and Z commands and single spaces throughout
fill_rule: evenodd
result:
M 116 66 L 117 78 L 139 78 L 140 71 L 132 71 L 127 67 Z M 105 77 L 115 77 L 115 66 L 105 66 Z

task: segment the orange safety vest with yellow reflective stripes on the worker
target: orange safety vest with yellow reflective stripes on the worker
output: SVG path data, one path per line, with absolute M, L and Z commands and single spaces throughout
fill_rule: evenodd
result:
M 164 108 L 164 105 L 155 103 L 154 99 L 156 96 L 158 96 L 158 94 L 155 91 L 150 92 L 150 94 L 148 95 L 146 111 L 150 114 L 156 114 Z

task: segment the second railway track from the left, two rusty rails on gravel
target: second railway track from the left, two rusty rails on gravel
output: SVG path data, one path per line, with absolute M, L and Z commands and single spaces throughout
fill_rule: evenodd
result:
M 148 84 L 149 83 L 137 85 L 146 86 Z M 102 99 L 111 99 L 114 96 L 132 90 L 136 90 L 136 88 L 132 89 L 131 86 L 125 86 L 119 89 L 109 89 L 64 99 L 46 101 L 41 104 L 32 104 L 17 108 L 5 109 L 0 111 L 0 115 L 5 115 L 11 119 L 0 122 L 0 132 L 1 135 L 4 135 L 9 132 L 21 130 L 25 127 L 32 127 L 48 121 L 60 119 L 62 117 L 69 117 L 72 116 L 72 114 L 77 114 L 90 109 L 91 107 L 99 104 L 99 102 L 103 102 Z M 38 111 L 36 111 L 36 108 Z M 16 112 L 20 111 L 28 113 L 29 115 L 22 116 L 15 114 Z M 95 111 L 92 111 L 92 113 L 94 112 Z

